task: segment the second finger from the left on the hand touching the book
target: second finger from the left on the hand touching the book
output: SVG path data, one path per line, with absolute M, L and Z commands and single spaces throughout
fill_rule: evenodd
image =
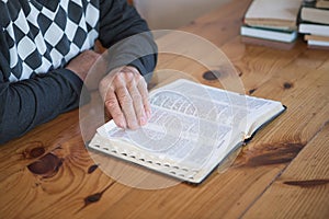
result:
M 115 93 L 124 113 L 127 127 L 131 129 L 138 128 L 133 100 L 128 90 L 124 85 L 121 85 L 115 90 Z

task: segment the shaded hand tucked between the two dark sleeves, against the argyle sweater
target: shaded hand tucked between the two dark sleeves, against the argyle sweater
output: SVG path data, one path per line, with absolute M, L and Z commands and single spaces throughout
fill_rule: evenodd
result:
M 84 81 L 87 73 L 100 56 L 100 54 L 93 50 L 82 51 L 79 56 L 70 60 L 70 62 L 66 66 L 66 69 L 71 70 L 79 76 L 82 81 Z

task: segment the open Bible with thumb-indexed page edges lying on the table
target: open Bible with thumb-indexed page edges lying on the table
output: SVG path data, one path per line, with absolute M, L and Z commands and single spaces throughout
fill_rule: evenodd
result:
M 89 148 L 190 183 L 201 183 L 235 149 L 285 107 L 276 101 L 180 79 L 149 95 L 152 116 L 137 130 L 113 120 Z

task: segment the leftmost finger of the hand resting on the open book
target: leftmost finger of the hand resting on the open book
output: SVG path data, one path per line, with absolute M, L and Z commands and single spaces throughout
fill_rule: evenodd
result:
M 126 125 L 125 116 L 120 107 L 116 95 L 113 91 L 109 91 L 106 93 L 106 99 L 105 99 L 104 104 L 105 104 L 107 111 L 110 112 L 116 126 L 118 126 L 121 128 L 126 128 L 127 125 Z

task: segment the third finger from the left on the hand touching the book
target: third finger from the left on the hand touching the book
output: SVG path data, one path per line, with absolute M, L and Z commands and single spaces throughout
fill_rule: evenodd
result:
M 134 104 L 134 108 L 135 108 L 135 113 L 136 113 L 138 123 L 140 126 L 144 126 L 147 123 L 147 118 L 145 115 L 145 108 L 144 108 L 141 95 L 139 94 L 139 90 L 137 89 L 137 84 L 136 84 L 135 80 L 132 80 L 129 82 L 128 91 L 129 91 L 132 100 L 133 100 L 133 104 Z

